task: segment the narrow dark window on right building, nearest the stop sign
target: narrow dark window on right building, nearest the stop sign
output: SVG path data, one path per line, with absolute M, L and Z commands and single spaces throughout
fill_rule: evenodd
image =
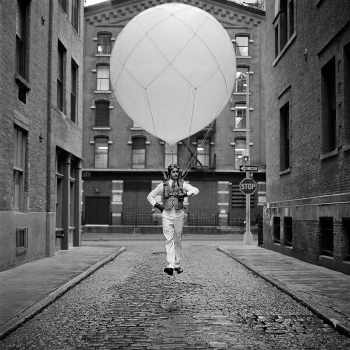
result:
M 290 166 L 289 102 L 280 109 L 280 170 Z

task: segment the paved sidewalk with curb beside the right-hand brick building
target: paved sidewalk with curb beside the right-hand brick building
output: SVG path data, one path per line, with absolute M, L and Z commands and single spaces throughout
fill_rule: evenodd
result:
M 350 337 L 350 275 L 252 245 L 219 246 Z

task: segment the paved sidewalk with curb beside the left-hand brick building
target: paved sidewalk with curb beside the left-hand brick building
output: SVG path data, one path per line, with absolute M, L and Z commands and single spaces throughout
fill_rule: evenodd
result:
M 125 250 L 118 242 L 82 242 L 52 257 L 0 272 L 0 339 Z

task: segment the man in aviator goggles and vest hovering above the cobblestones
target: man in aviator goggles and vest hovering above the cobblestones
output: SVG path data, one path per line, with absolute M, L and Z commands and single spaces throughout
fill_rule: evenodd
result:
M 170 276 L 174 273 L 174 269 L 177 273 L 183 272 L 180 267 L 181 237 L 185 217 L 183 199 L 199 193 L 198 188 L 179 179 L 179 170 L 179 166 L 170 164 L 168 167 L 169 179 L 160 183 L 147 196 L 148 202 L 162 212 L 162 226 L 168 260 L 168 266 L 164 272 Z M 155 200 L 155 197 L 160 195 L 162 195 L 163 204 Z

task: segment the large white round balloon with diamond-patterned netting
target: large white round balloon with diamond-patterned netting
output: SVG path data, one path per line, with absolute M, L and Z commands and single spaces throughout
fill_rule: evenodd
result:
M 222 111 L 235 83 L 236 56 L 212 15 L 167 3 L 128 22 L 114 44 L 110 76 L 128 116 L 174 145 Z

